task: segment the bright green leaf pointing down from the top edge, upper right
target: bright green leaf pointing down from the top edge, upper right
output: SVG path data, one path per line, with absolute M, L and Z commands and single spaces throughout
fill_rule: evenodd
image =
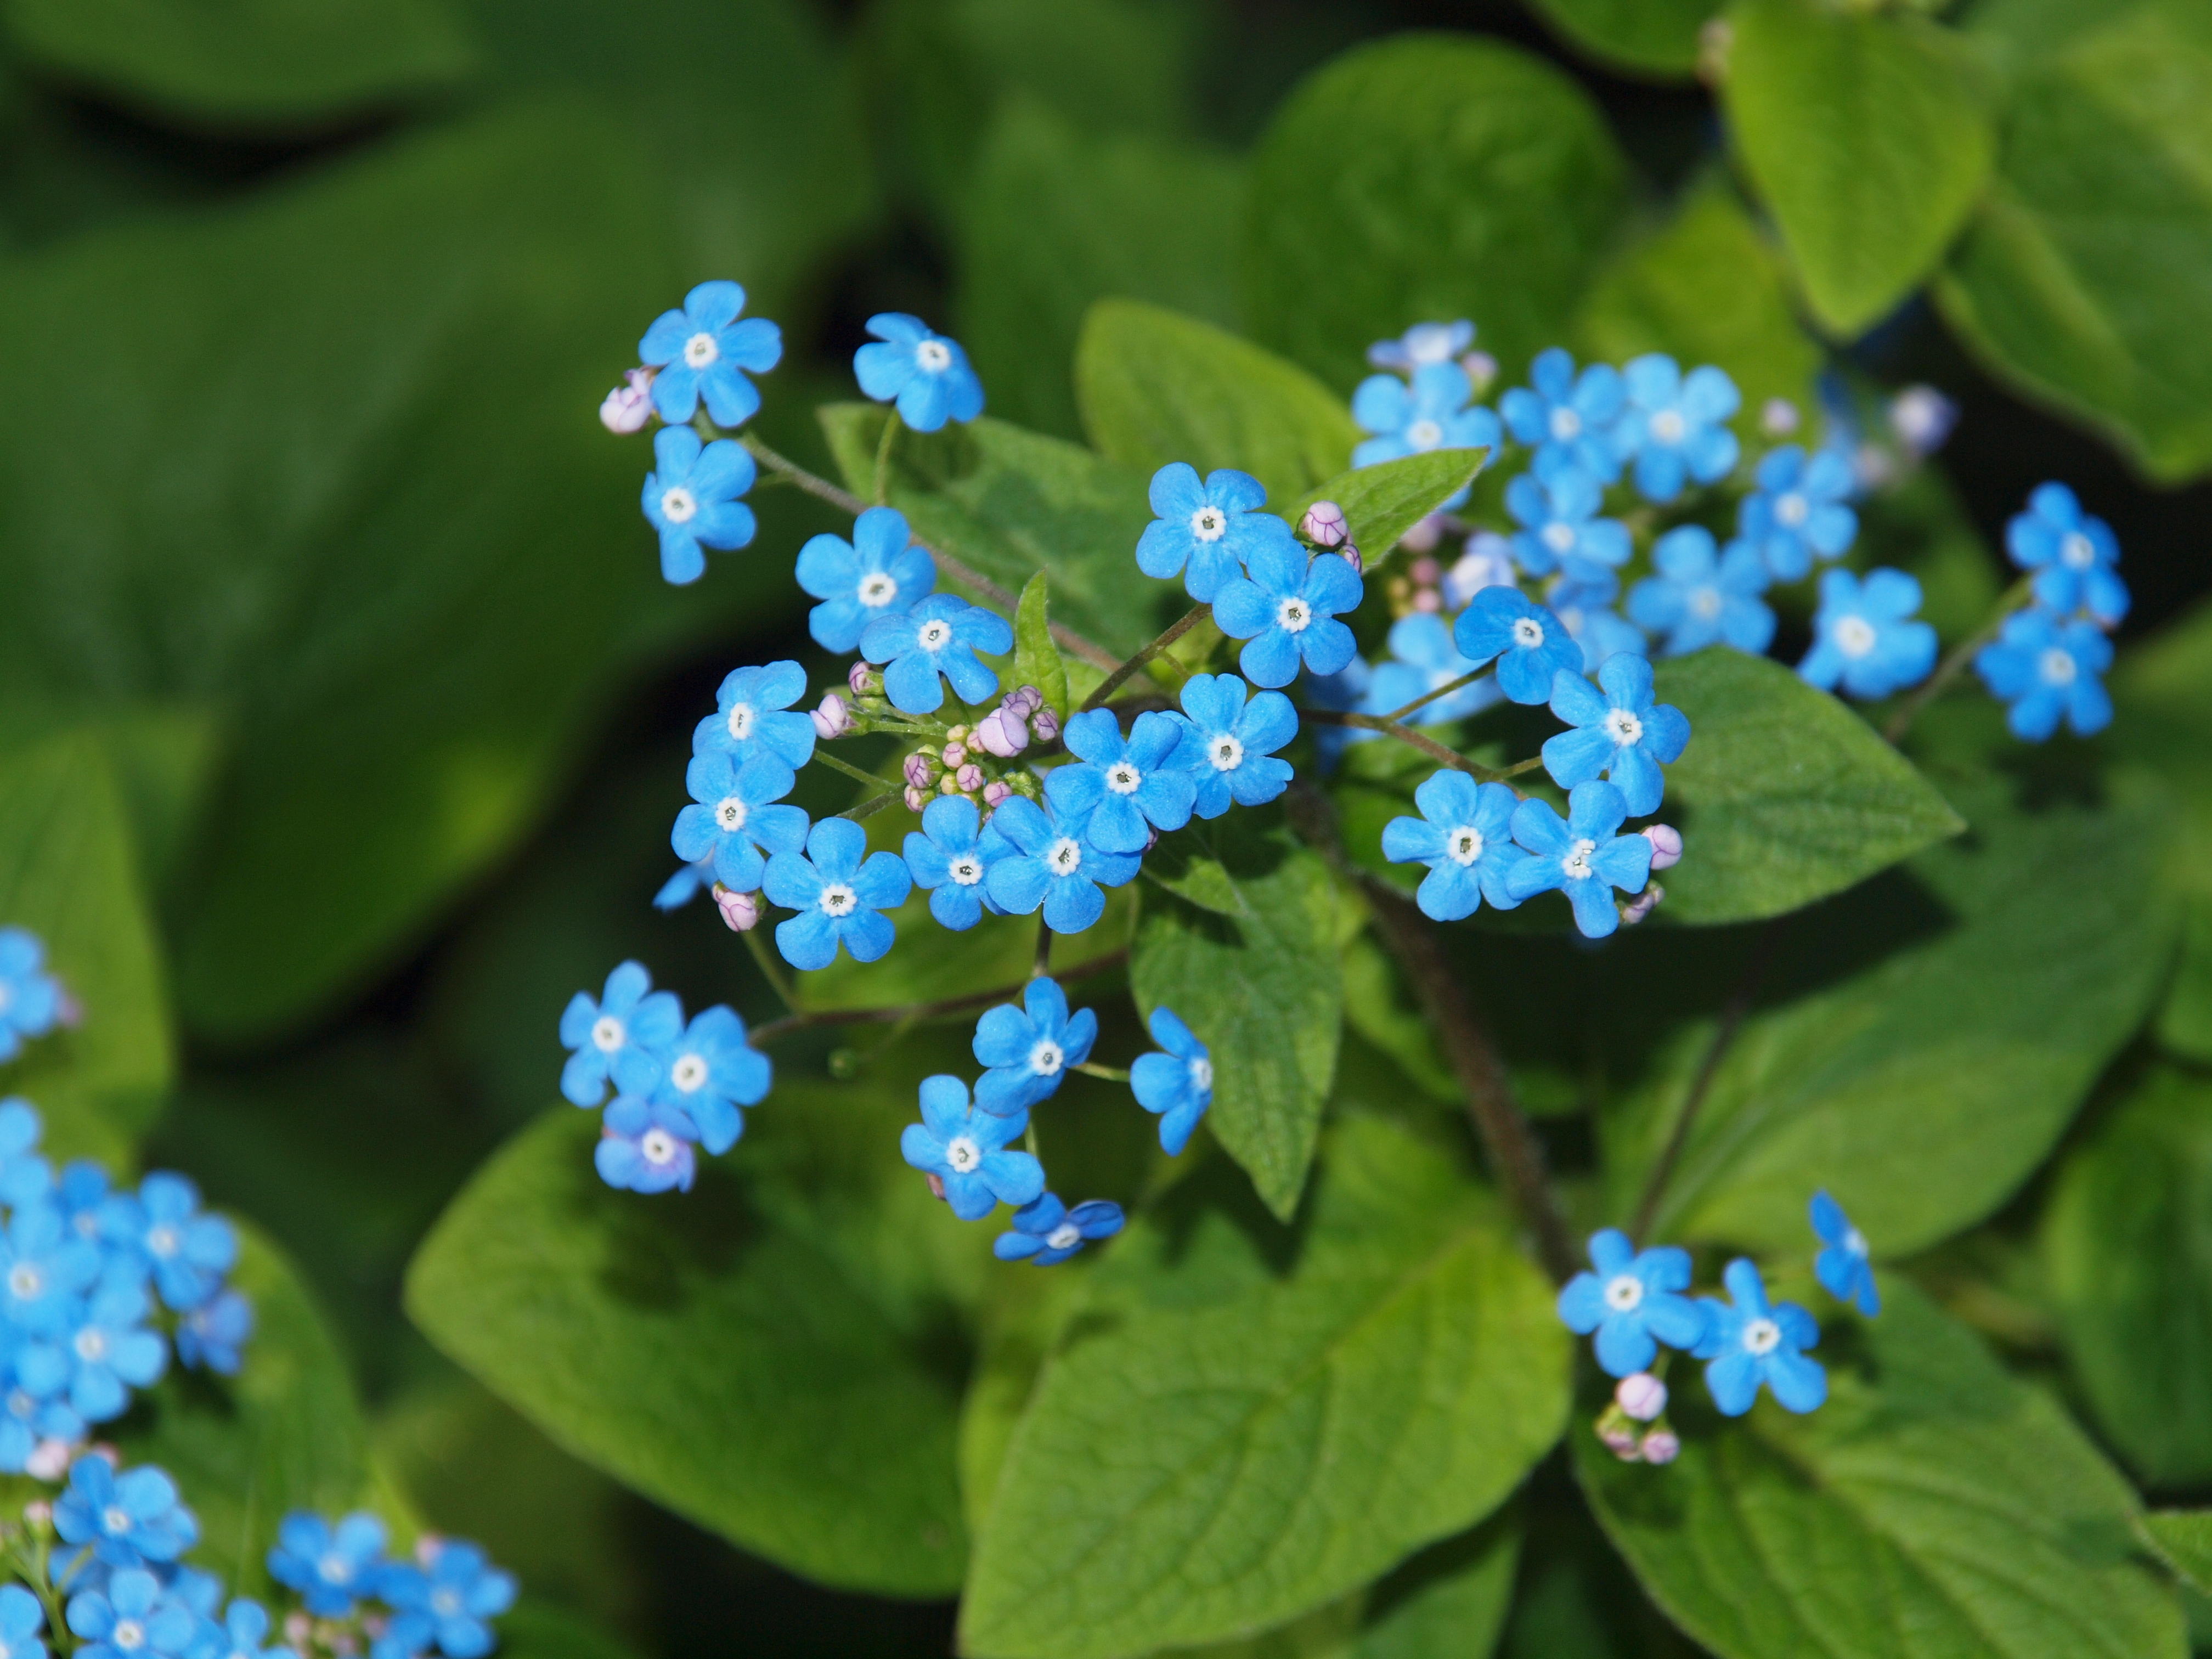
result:
M 1730 131 L 1805 299 L 1851 336 L 1942 259 L 1997 153 L 1984 77 L 1958 35 L 1820 0 L 1728 13 Z

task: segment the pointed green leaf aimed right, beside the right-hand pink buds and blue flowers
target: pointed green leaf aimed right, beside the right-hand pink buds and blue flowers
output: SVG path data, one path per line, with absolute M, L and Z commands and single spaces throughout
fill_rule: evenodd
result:
M 1865 880 L 1964 825 L 1858 714 L 1790 668 L 1712 648 L 1659 664 L 1659 701 L 1690 717 L 1668 768 L 1674 922 L 1745 922 Z

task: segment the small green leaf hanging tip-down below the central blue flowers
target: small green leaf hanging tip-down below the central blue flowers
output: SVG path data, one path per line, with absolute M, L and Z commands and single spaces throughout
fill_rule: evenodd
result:
M 1206 1124 L 1267 1208 L 1290 1219 L 1336 1077 L 1336 885 L 1272 814 L 1239 812 L 1177 836 L 1190 849 L 1186 885 L 1208 907 L 1146 883 L 1130 993 L 1146 1020 L 1175 1009 L 1212 1051 Z

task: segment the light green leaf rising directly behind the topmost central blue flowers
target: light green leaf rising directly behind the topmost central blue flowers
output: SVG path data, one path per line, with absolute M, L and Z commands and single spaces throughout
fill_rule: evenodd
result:
M 1130 299 L 1099 301 L 1084 319 L 1075 398 L 1091 442 L 1124 467 L 1234 467 L 1259 478 L 1279 513 L 1336 478 L 1363 436 L 1345 400 L 1296 363 Z

